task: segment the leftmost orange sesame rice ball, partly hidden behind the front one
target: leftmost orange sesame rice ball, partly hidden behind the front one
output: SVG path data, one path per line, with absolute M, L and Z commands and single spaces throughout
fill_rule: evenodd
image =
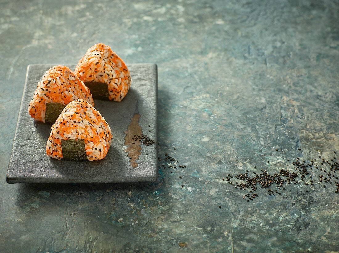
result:
M 54 123 L 71 101 L 85 99 L 93 105 L 92 95 L 82 81 L 66 66 L 46 71 L 29 103 L 29 115 L 38 121 Z

